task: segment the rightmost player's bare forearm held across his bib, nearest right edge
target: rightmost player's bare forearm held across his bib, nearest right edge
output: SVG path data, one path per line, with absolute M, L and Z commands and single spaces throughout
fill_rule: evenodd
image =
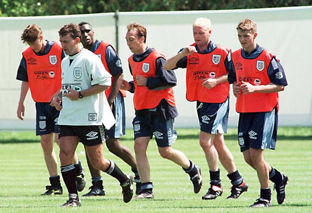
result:
M 251 93 L 276 93 L 284 90 L 283 85 L 269 83 L 267 85 L 252 85 L 251 83 L 242 81 L 240 85 L 243 94 Z

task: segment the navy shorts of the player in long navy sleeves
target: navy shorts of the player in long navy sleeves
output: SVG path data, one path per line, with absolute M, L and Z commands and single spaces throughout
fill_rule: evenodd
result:
M 165 119 L 157 116 L 156 109 L 155 111 L 149 110 L 144 116 L 136 116 L 133 119 L 135 139 L 146 136 L 152 138 L 154 135 L 158 147 L 171 146 L 177 138 L 174 123 L 174 118 Z

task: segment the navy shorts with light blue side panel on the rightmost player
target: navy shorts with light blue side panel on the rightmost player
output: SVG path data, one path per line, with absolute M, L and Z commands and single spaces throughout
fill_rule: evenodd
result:
M 238 144 L 240 151 L 249 148 L 275 149 L 277 138 L 277 110 L 261 113 L 240 113 L 238 120 Z

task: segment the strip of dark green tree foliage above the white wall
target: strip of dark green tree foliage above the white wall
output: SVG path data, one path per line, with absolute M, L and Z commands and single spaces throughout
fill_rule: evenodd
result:
M 312 5 L 312 0 L 0 0 L 0 16 L 222 10 Z

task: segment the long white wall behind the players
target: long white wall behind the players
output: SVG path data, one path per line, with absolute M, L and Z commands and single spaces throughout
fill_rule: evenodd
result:
M 25 101 L 25 120 L 16 117 L 20 95 L 20 81 L 16 71 L 21 52 L 27 47 L 20 41 L 20 34 L 29 24 L 39 24 L 46 39 L 58 41 L 58 30 L 64 24 L 87 21 L 93 25 L 95 37 L 116 47 L 114 13 L 53 17 L 0 18 L 2 30 L 0 78 L 0 130 L 34 129 L 35 108 L 30 94 Z M 257 43 L 269 49 L 283 65 L 289 86 L 280 93 L 280 125 L 312 126 L 312 84 L 309 66 L 312 48 L 312 6 L 218 11 L 184 12 L 121 12 L 118 14 L 119 50 L 125 79 L 130 80 L 127 58 L 131 55 L 125 42 L 126 25 L 131 21 L 147 27 L 147 45 L 154 47 L 167 58 L 193 43 L 192 23 L 196 18 L 207 17 L 212 21 L 212 40 L 232 50 L 240 48 L 236 25 L 241 19 L 257 23 Z M 185 70 L 176 70 L 178 85 L 174 88 L 179 116 L 176 127 L 198 127 L 195 103 L 185 99 Z M 127 126 L 134 116 L 132 95 L 125 99 Z M 230 126 L 236 126 L 235 99 L 231 94 Z

